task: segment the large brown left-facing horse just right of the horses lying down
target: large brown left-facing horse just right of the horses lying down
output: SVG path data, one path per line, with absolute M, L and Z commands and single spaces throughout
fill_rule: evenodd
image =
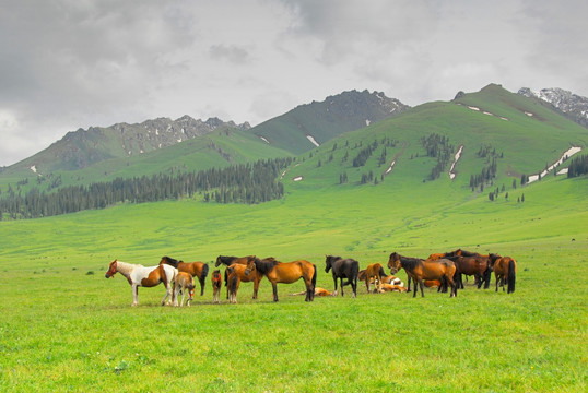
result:
M 392 252 L 388 260 L 388 267 L 392 274 L 397 273 L 400 269 L 404 269 L 409 277 L 414 282 L 414 293 L 412 297 L 416 297 L 419 286 L 421 287 L 421 297 L 425 296 L 423 293 L 424 279 L 438 279 L 442 283 L 447 283 L 451 286 L 449 296 L 457 296 L 457 285 L 454 282 L 456 265 L 452 261 L 447 259 L 425 261 L 419 258 L 402 257 L 397 252 Z

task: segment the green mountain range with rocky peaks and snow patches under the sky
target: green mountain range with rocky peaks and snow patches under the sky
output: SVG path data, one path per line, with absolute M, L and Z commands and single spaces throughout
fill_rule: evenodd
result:
M 562 165 L 572 147 L 586 148 L 588 130 L 568 118 L 581 114 L 583 98 L 553 92 L 558 94 L 529 97 L 527 90 L 517 94 L 491 84 L 411 108 L 383 93 L 352 91 L 257 127 L 185 116 L 78 130 L 5 168 L 0 199 L 5 190 L 24 196 L 33 188 L 52 192 L 282 157 L 294 159 L 281 176 L 286 192 L 389 181 L 419 187 L 437 179 L 471 192 L 496 182 L 504 188 L 521 177 L 540 178 Z

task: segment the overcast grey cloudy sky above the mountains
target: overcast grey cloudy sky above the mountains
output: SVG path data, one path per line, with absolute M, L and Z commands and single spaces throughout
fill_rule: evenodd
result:
M 0 0 L 0 166 L 68 131 L 252 126 L 349 90 L 588 96 L 588 1 Z

